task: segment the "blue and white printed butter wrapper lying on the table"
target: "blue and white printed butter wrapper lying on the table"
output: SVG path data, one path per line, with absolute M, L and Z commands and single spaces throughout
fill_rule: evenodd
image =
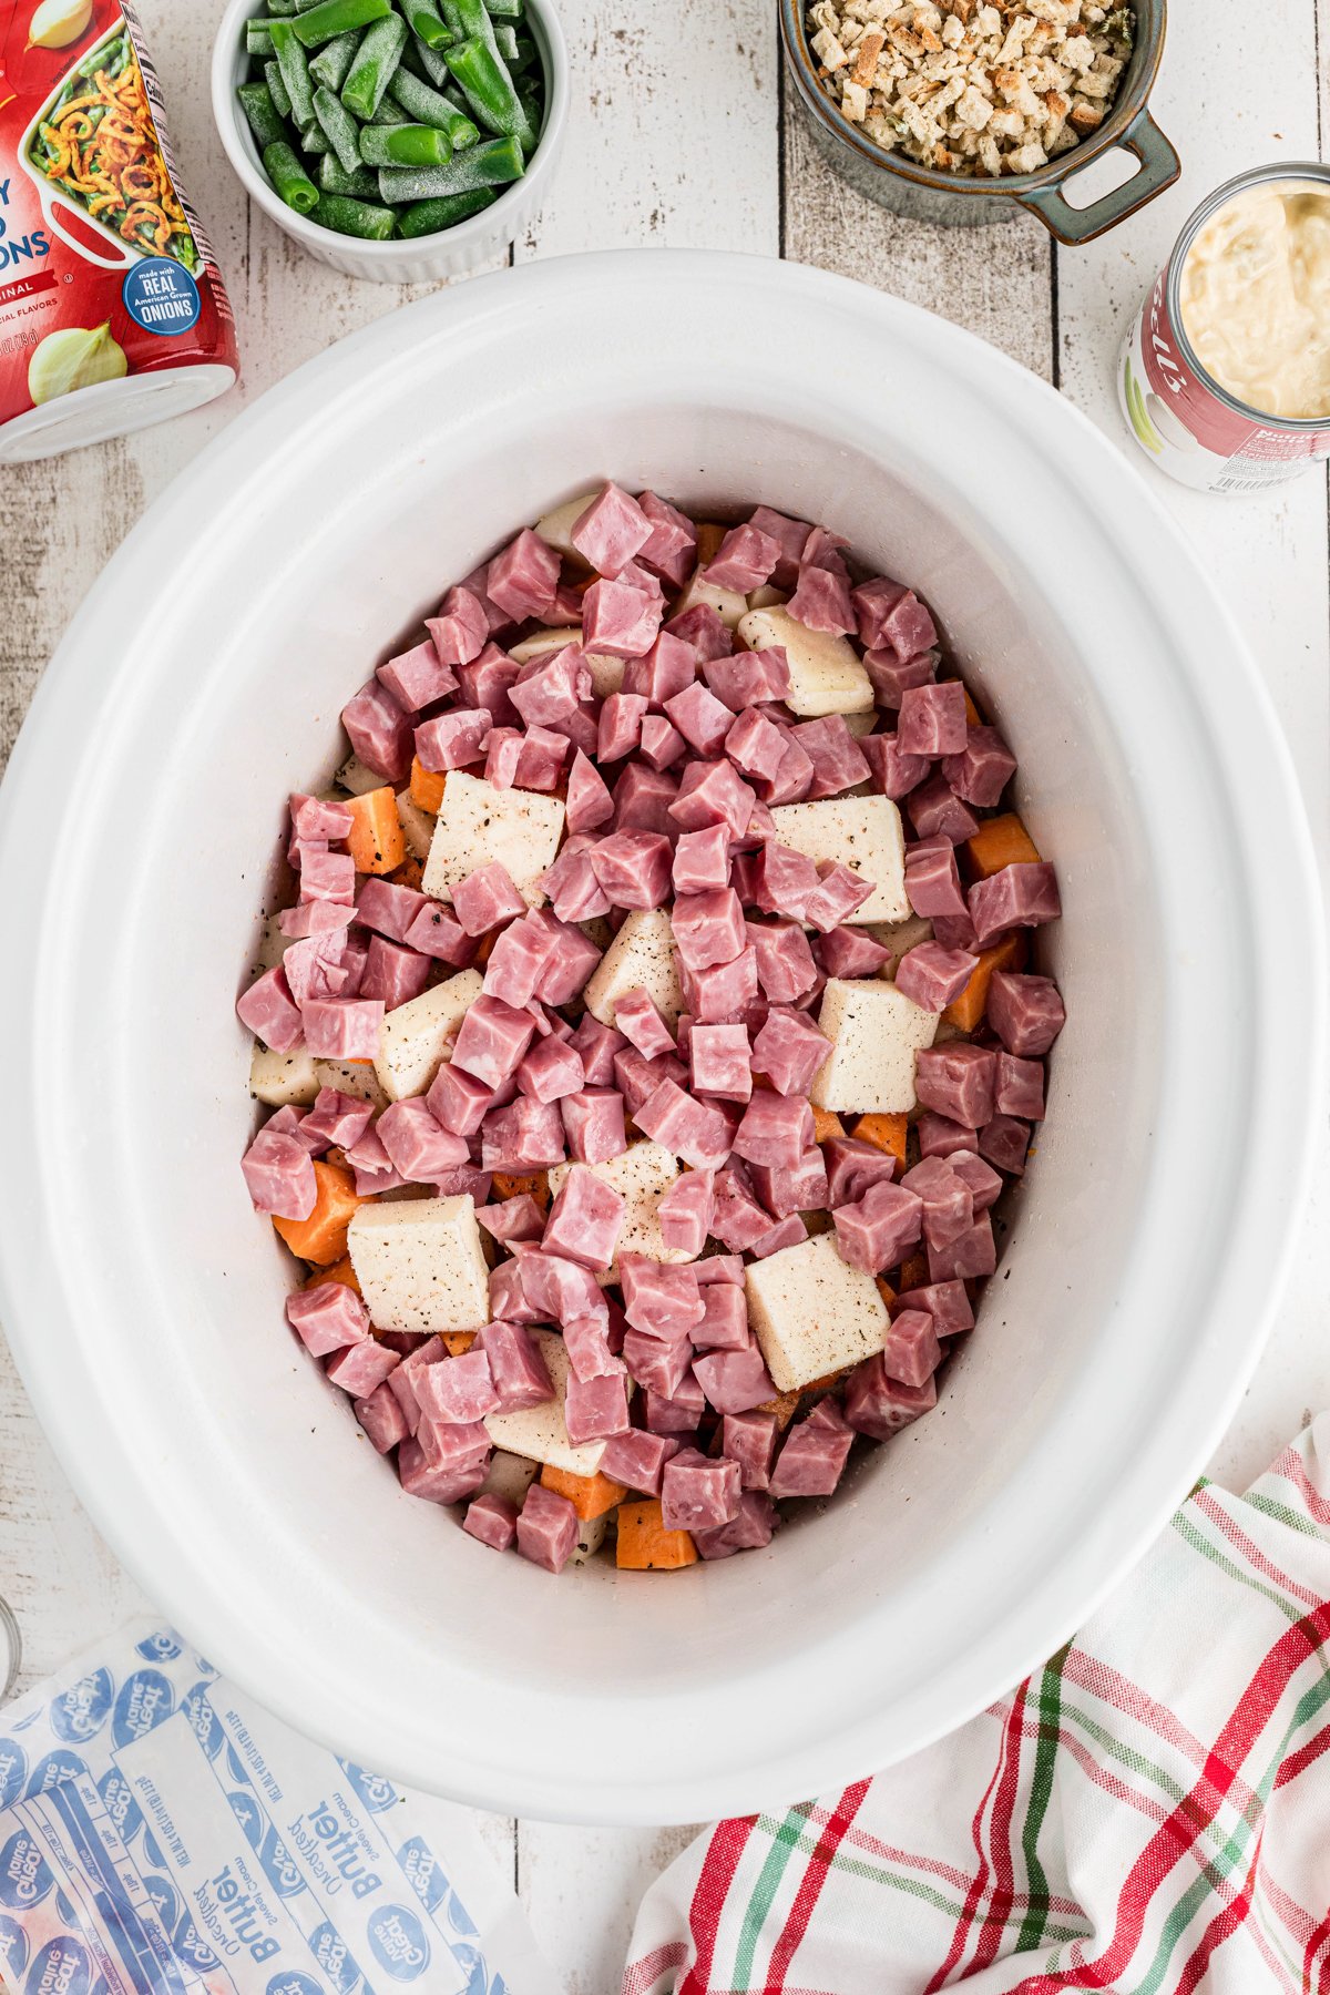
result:
M 552 1995 L 465 1807 L 140 1624 L 0 1710 L 14 1995 Z

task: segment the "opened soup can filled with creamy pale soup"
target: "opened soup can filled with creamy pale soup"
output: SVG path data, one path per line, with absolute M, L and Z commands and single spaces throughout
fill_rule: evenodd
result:
M 1117 393 L 1141 449 L 1198 491 L 1268 491 L 1330 457 L 1330 168 L 1254 168 L 1200 203 Z

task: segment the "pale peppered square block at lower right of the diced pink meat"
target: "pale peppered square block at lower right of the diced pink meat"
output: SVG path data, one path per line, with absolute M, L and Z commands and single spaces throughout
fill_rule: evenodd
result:
M 877 1283 L 841 1261 L 833 1233 L 754 1261 L 744 1283 L 748 1321 L 780 1393 L 871 1359 L 887 1341 Z

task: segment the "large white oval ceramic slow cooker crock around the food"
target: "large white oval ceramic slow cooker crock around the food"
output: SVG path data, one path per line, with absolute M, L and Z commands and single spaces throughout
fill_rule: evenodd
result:
M 239 1173 L 231 1005 L 285 796 L 331 772 L 343 700 L 451 579 L 602 477 L 828 521 L 927 597 L 1059 868 L 1069 1023 L 937 1412 L 768 1552 L 554 1580 L 401 1494 L 287 1333 L 293 1269 Z M 22 1375 L 164 1612 L 361 1764 L 590 1821 L 881 1768 L 1069 1636 L 1228 1422 L 1320 1101 L 1290 760 L 1135 469 L 953 325 L 820 271 L 664 251 L 391 313 L 130 535 L 0 798 L 0 1309 Z

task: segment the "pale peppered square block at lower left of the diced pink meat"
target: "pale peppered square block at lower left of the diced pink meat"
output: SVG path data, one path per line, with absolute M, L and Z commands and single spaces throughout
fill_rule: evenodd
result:
M 379 1331 L 479 1331 L 489 1323 L 489 1267 L 475 1201 L 357 1205 L 347 1251 Z

